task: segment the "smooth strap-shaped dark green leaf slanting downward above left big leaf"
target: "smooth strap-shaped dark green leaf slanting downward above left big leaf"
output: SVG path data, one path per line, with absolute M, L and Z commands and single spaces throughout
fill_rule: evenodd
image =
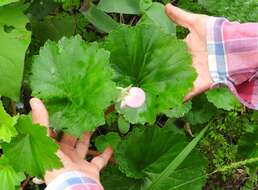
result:
M 87 11 L 82 13 L 85 15 L 88 21 L 100 31 L 108 33 L 119 26 L 119 24 L 114 21 L 109 15 L 98 9 L 93 4 Z

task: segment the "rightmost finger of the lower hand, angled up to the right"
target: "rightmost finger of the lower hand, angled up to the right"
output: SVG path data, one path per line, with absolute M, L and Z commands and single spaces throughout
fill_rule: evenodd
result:
M 110 160 L 111 156 L 113 154 L 113 150 L 111 147 L 108 147 L 105 149 L 105 151 L 95 158 L 92 159 L 91 163 L 97 166 L 98 170 L 102 170 Z

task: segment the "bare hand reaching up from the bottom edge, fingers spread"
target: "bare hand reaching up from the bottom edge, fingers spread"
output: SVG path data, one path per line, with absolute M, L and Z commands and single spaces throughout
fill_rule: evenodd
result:
M 32 109 L 32 121 L 34 123 L 48 127 L 48 112 L 44 104 L 37 98 L 30 100 Z M 55 138 L 55 133 L 49 128 L 49 136 Z M 81 139 L 77 139 L 73 136 L 64 134 L 60 142 L 58 142 L 60 148 L 57 152 L 58 157 L 63 163 L 63 168 L 52 171 L 47 171 L 45 174 L 45 183 L 48 185 L 60 174 L 67 171 L 79 171 L 86 177 L 93 179 L 99 185 L 99 173 L 103 167 L 106 166 L 109 159 L 112 156 L 112 149 L 107 148 L 101 155 L 96 156 L 88 162 L 85 160 L 90 144 L 90 133 L 85 133 Z

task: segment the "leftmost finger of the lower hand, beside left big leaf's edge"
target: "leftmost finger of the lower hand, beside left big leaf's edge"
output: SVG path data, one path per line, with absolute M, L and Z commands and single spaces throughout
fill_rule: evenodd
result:
M 53 130 L 49 128 L 48 111 L 43 102 L 38 98 L 30 99 L 32 122 L 48 127 L 48 135 L 52 138 L 56 137 Z

